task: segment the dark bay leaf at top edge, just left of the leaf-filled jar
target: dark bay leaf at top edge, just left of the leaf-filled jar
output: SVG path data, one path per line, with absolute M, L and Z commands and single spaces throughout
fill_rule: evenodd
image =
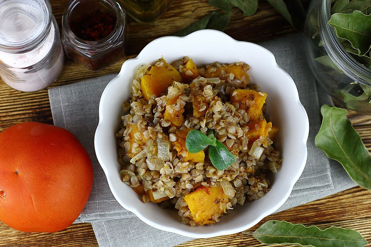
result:
M 267 0 L 292 26 L 302 30 L 305 20 L 305 10 L 300 0 Z

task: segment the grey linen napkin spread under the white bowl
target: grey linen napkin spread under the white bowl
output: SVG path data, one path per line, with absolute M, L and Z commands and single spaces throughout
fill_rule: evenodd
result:
M 331 104 L 331 99 L 322 90 L 317 90 L 302 44 L 302 35 L 261 44 L 274 54 L 277 64 L 295 81 L 300 101 L 310 119 L 305 169 L 291 196 L 278 211 L 355 186 L 344 169 L 337 163 L 330 163 L 314 144 L 321 125 L 320 105 Z M 138 243 L 142 246 L 171 246 L 189 241 L 191 238 L 154 229 L 141 222 L 132 212 L 117 203 L 108 187 L 95 155 L 94 133 L 98 125 L 101 94 L 114 76 L 115 74 L 111 74 L 49 89 L 54 125 L 76 135 L 87 149 L 94 168 L 92 192 L 76 222 L 92 222 L 100 246 L 133 246 Z

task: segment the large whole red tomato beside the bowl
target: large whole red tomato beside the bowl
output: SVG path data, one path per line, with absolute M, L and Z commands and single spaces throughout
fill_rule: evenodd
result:
M 0 133 L 0 220 L 24 232 L 56 232 L 81 213 L 90 158 L 69 131 L 24 122 Z

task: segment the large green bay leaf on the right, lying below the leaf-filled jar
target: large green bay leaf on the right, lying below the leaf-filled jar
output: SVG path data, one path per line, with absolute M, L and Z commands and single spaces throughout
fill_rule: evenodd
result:
M 328 158 L 341 163 L 360 187 L 371 190 L 371 156 L 347 118 L 347 110 L 321 107 L 321 129 L 315 144 Z

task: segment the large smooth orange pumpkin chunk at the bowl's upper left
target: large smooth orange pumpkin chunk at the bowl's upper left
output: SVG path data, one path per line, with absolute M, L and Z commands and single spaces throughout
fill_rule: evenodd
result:
M 152 68 L 141 79 L 141 90 L 143 97 L 149 101 L 152 95 L 159 97 L 174 81 L 181 82 L 179 72 L 162 58 L 159 61 L 163 66 L 152 66 Z

